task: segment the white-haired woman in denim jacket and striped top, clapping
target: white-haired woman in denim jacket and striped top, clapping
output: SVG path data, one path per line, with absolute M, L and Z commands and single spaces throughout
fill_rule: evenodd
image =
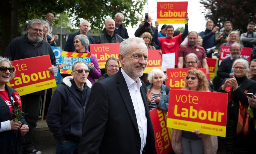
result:
M 153 68 L 148 73 L 147 79 L 150 85 L 146 87 L 146 92 L 149 110 L 159 107 L 160 109 L 168 111 L 170 88 L 163 84 L 163 80 L 166 78 L 166 74 L 158 68 Z

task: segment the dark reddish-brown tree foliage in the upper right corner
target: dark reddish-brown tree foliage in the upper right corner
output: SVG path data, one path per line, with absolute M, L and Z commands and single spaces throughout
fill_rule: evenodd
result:
M 247 32 L 247 24 L 256 21 L 255 0 L 201 0 L 205 7 L 205 18 L 213 20 L 215 26 L 223 27 L 225 21 L 233 23 L 233 30 Z

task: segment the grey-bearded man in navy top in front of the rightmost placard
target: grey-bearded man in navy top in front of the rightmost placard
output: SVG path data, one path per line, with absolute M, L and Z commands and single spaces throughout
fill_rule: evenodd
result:
M 221 65 L 219 65 L 218 71 L 217 71 L 217 76 L 220 78 L 230 78 L 234 76 L 234 73 L 231 72 L 232 65 L 236 59 L 242 58 L 241 54 L 242 47 L 241 44 L 239 43 L 233 43 L 230 46 L 230 56 L 222 60 Z M 247 60 L 247 59 L 245 59 Z

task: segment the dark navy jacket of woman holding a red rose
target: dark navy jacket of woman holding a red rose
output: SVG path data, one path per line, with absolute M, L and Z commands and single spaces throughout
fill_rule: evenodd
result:
M 13 102 L 11 101 L 11 96 L 13 96 L 13 92 L 16 91 L 13 88 L 7 86 L 5 84 L 5 88 L 8 91 L 10 102 L 13 105 Z M 14 105 L 13 105 L 14 106 Z M 14 115 L 15 116 L 15 115 Z M 1 122 L 12 120 L 12 116 L 10 113 L 9 106 L 5 103 L 3 98 L 0 96 L 0 128 L 1 128 Z M 21 117 L 22 124 L 27 124 L 24 116 Z M 16 140 L 16 143 L 15 143 Z M 21 133 L 19 130 L 14 131 L 3 131 L 0 132 L 0 153 L 8 153 L 8 154 L 15 154 L 15 147 L 17 147 L 18 154 L 22 153 L 22 147 L 21 147 Z

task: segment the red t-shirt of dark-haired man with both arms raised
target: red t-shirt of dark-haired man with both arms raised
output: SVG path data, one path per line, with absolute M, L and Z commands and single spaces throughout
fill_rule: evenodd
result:
M 158 38 L 162 54 L 175 53 L 175 65 L 178 65 L 179 45 L 182 43 L 181 34 L 171 38 Z

